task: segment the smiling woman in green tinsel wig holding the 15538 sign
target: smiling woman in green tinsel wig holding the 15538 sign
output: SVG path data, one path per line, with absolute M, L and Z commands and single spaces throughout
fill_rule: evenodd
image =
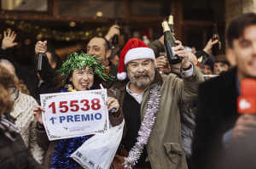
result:
M 89 54 L 71 54 L 61 66 L 61 92 L 84 91 L 100 88 L 102 81 L 108 81 L 111 76 L 105 73 L 106 67 L 98 62 L 96 56 Z M 66 83 L 66 85 L 64 85 Z M 110 95 L 108 93 L 108 95 Z M 118 125 L 123 121 L 122 112 L 119 109 L 117 99 L 108 97 L 108 110 L 114 110 L 109 113 L 109 119 L 113 126 Z M 77 138 L 67 138 L 50 142 L 45 134 L 44 126 L 42 125 L 41 112 L 43 108 L 35 107 L 34 115 L 38 120 L 38 144 L 47 150 L 44 160 L 44 168 L 79 168 L 79 164 L 69 157 L 76 149 L 84 142 L 92 137 L 83 136 Z

